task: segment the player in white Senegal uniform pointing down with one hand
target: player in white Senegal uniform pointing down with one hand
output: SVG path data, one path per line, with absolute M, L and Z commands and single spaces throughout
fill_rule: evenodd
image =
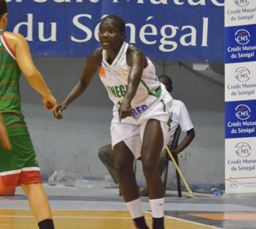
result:
M 67 108 L 84 90 L 97 68 L 114 103 L 111 122 L 115 172 L 128 210 L 138 229 L 148 229 L 133 176 L 133 160 L 142 158 L 153 214 L 153 229 L 163 229 L 163 185 L 158 173 L 159 155 L 168 142 L 172 97 L 161 86 L 153 63 L 143 52 L 125 43 L 125 23 L 115 15 L 105 17 L 99 26 L 101 48 L 87 58 L 80 80 L 57 114 Z M 55 115 L 61 119 L 61 115 Z

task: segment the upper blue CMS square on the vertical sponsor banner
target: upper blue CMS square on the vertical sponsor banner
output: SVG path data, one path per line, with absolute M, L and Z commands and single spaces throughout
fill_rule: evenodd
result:
M 225 62 L 256 61 L 256 24 L 225 28 Z

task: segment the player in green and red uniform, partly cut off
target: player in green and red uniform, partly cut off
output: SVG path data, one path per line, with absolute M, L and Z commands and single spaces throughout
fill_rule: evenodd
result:
M 42 95 L 46 110 L 53 111 L 56 100 L 35 68 L 25 38 L 5 31 L 7 22 L 7 3 L 0 0 L 0 108 L 12 147 L 0 145 L 0 176 L 6 189 L 22 187 L 40 229 L 54 229 L 38 161 L 21 113 L 20 73 L 23 72 L 30 85 Z

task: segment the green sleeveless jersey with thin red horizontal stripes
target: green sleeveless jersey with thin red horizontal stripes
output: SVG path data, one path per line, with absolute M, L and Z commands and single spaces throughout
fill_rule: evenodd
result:
M 9 136 L 27 135 L 29 133 L 21 113 L 21 71 L 4 31 L 0 29 L 0 112 Z

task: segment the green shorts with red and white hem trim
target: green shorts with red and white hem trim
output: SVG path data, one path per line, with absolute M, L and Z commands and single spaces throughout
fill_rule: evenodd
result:
M 0 146 L 0 176 L 5 188 L 42 183 L 40 169 L 29 135 L 10 136 L 11 150 Z

